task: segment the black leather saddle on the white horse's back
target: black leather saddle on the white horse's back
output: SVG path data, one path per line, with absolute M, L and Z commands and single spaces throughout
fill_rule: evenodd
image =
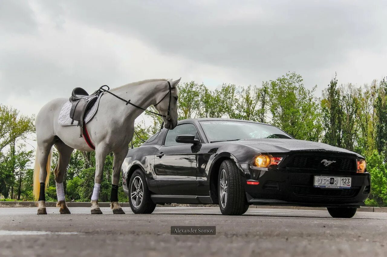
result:
M 71 124 L 74 121 L 78 122 L 80 126 L 80 137 L 83 135 L 84 119 L 87 111 L 97 101 L 101 91 L 97 90 L 89 95 L 83 88 L 74 88 L 71 93 L 70 102 L 72 103 L 70 109 L 70 118 L 72 119 Z

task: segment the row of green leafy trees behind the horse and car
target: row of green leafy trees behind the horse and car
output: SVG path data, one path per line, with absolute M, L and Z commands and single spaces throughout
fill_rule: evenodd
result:
M 296 73 L 264 81 L 260 86 L 223 84 L 213 90 L 191 81 L 179 86 L 178 118 L 222 117 L 266 122 L 296 139 L 321 141 L 358 152 L 365 156 L 371 174 L 371 193 L 366 203 L 387 206 L 386 79 L 355 86 L 339 84 L 335 75 L 319 97 L 316 86 L 305 86 Z M 156 112 L 154 107 L 149 110 Z M 34 132 L 32 124 L 33 117 L 0 105 L 0 193 L 5 197 L 15 188 L 17 198 L 32 198 L 33 171 L 29 169 L 32 153 L 23 145 L 27 135 Z M 146 114 L 143 121 L 135 124 L 137 135 L 129 147 L 140 146 L 141 139 L 156 134 L 161 124 L 160 117 Z M 56 159 L 54 151 L 54 162 Z M 112 163 L 113 154 L 109 154 L 100 201 L 110 199 Z M 66 200 L 89 201 L 94 173 L 94 152 L 74 150 L 64 181 Z M 119 201 L 127 201 L 122 187 L 119 188 Z M 56 200 L 53 176 L 46 194 L 48 201 Z

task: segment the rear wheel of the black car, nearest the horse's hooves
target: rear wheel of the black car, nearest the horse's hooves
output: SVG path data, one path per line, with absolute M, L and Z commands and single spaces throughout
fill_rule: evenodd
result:
M 151 199 L 151 191 L 148 189 L 145 175 L 141 169 L 136 169 L 130 177 L 128 191 L 129 205 L 135 214 L 151 214 L 154 211 L 156 203 Z M 131 197 L 132 193 L 135 193 L 133 198 Z

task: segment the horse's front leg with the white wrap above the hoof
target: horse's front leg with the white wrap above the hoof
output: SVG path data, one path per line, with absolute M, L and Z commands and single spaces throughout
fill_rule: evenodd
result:
M 94 177 L 94 189 L 91 196 L 91 214 L 102 214 L 98 205 L 99 189 L 103 179 L 103 166 L 105 164 L 106 156 L 108 155 L 107 147 L 104 145 L 97 145 L 96 147 L 96 174 Z

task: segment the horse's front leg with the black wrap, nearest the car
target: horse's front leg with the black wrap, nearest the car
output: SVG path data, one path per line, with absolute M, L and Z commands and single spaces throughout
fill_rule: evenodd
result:
M 114 214 L 125 214 L 118 203 L 118 182 L 120 181 L 121 166 L 128 153 L 128 146 L 118 152 L 114 152 L 113 175 L 111 176 L 110 208 Z

